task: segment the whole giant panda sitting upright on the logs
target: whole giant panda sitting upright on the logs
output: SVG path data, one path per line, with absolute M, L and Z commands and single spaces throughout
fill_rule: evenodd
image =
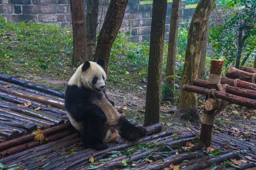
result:
M 120 136 L 137 139 L 146 135 L 144 128 L 128 122 L 114 108 L 105 93 L 105 62 L 86 61 L 79 66 L 68 82 L 65 108 L 71 124 L 81 133 L 87 148 L 107 149 L 107 142 L 116 142 Z

